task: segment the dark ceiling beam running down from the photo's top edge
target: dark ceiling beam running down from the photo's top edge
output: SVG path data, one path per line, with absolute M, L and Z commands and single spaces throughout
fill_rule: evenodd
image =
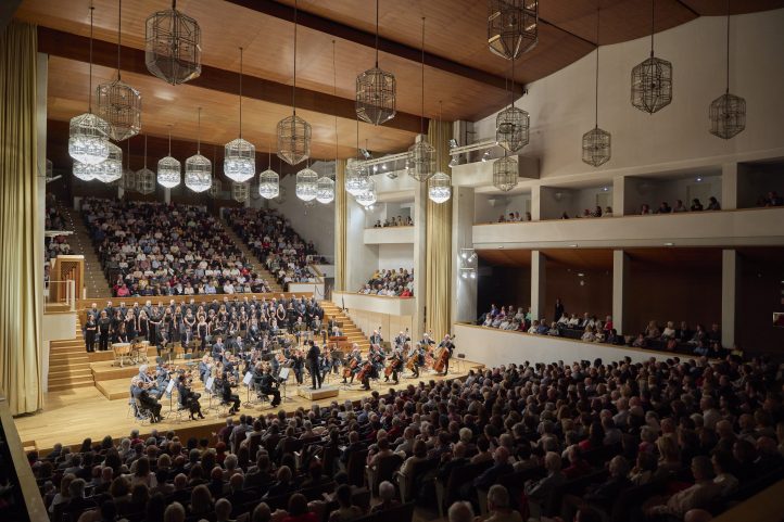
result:
M 228 1 L 245 9 L 255 11 L 257 13 L 266 14 L 268 16 L 283 20 L 286 22 L 291 22 L 292 24 L 294 23 L 294 8 L 290 5 L 286 5 L 270 0 L 266 0 L 263 2 L 260 2 L 257 0 Z M 340 38 L 342 40 L 351 41 L 372 49 L 376 48 L 375 33 L 357 29 L 356 27 L 352 27 L 350 25 L 336 22 L 324 16 L 308 13 L 307 11 L 303 11 L 301 9 L 296 12 L 296 23 L 304 27 L 333 36 L 336 38 Z M 381 52 L 385 52 L 387 54 L 392 54 L 412 62 L 420 63 L 422 60 L 421 49 L 417 49 L 415 47 L 410 47 L 399 41 L 390 40 L 389 38 L 383 38 L 382 36 L 379 36 L 378 38 L 378 48 Z M 470 65 L 465 65 L 447 58 L 439 56 L 438 54 L 426 52 L 425 64 L 430 67 L 443 71 L 445 73 L 454 74 L 464 78 L 471 79 L 473 81 L 479 81 L 495 87 L 496 89 L 509 89 L 508 80 L 503 76 L 488 73 L 486 71 L 471 67 Z M 516 85 L 515 90 L 518 94 L 522 94 L 524 91 L 524 86 Z

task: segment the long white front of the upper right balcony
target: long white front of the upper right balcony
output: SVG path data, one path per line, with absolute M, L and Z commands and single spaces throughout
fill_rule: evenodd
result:
M 473 226 L 475 249 L 784 244 L 784 207 Z

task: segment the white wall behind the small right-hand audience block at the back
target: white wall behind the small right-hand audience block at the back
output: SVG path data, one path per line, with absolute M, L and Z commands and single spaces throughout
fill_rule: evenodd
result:
M 319 169 L 318 173 L 320 175 L 321 170 Z M 305 207 L 304 202 L 294 194 L 295 184 L 294 175 L 280 180 L 280 186 L 286 188 L 286 201 L 282 205 L 263 199 L 253 200 L 252 204 L 263 207 L 266 203 L 269 208 L 281 212 L 302 239 L 313 241 L 319 254 L 331 258 L 334 255 L 334 202 L 328 205 L 316 202 L 314 206 Z

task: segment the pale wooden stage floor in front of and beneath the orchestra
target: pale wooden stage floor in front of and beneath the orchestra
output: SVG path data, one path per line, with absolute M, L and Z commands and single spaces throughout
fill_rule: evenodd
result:
M 460 365 L 457 359 L 453 359 L 452 369 L 448 379 L 465 377 L 470 369 L 481 368 L 482 365 L 463 360 Z M 417 384 L 419 381 L 428 382 L 430 380 L 441 381 L 444 377 L 434 373 L 422 373 L 419 379 L 403 378 L 400 385 L 393 386 L 385 384 L 383 379 L 371 381 L 372 390 L 385 393 L 390 387 L 403 389 L 409 384 Z M 291 382 L 291 381 L 290 381 Z M 334 384 L 340 386 L 340 379 L 332 375 L 330 382 L 325 385 Z M 128 379 L 128 386 L 130 379 Z M 303 385 L 309 387 L 309 381 Z M 240 387 L 239 395 L 244 402 L 246 393 L 244 387 Z M 320 400 L 308 400 L 296 394 L 296 386 L 288 386 L 288 398 L 280 407 L 271 408 L 269 403 L 262 405 L 254 404 L 250 407 L 243 407 L 240 413 L 236 415 L 237 419 L 241 413 L 250 413 L 254 416 L 266 415 L 270 411 L 283 409 L 293 411 L 300 406 L 309 408 L 312 404 L 319 406 L 329 405 L 332 400 L 343 402 L 345 399 L 359 400 L 368 395 L 368 392 L 361 390 L 358 384 L 354 384 L 350 390 L 341 389 L 337 397 L 325 398 Z M 202 396 L 202 408 L 206 409 L 206 397 Z M 162 413 L 169 410 L 168 399 L 164 398 Z M 162 422 L 150 425 L 139 422 L 128 413 L 127 400 L 109 400 L 97 387 L 74 389 L 67 392 L 53 392 L 45 394 L 45 408 L 36 415 L 21 416 L 14 419 L 20 438 L 25 443 L 25 447 L 35 445 L 39 450 L 47 451 L 54 446 L 55 443 L 62 443 L 68 446 L 79 446 L 86 437 L 91 437 L 93 443 L 100 442 L 105 435 L 111 435 L 118 440 L 127 436 L 132 429 L 139 429 L 142 435 L 149 434 L 152 429 L 159 431 L 175 430 L 180 437 L 182 436 L 210 436 L 216 428 L 226 423 L 226 417 L 219 416 L 216 411 L 205 411 L 204 420 L 185 420 L 164 419 Z M 175 404 L 176 408 L 176 404 Z

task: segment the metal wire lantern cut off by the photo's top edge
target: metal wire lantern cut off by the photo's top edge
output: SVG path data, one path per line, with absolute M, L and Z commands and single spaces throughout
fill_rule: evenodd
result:
M 514 60 L 539 41 L 538 0 L 490 0 L 488 46 L 501 58 Z

